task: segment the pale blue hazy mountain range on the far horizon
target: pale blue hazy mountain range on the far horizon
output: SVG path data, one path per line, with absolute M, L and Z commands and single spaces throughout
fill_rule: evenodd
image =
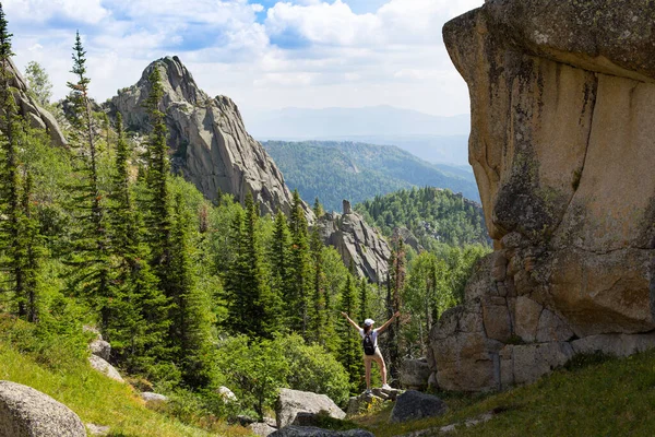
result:
M 471 117 L 438 117 L 392 106 L 286 108 L 245 116 L 261 141 L 353 141 L 396 145 L 430 163 L 468 165 Z

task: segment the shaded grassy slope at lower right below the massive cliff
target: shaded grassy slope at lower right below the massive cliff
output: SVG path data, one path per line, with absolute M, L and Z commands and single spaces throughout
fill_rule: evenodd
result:
M 650 436 L 655 429 L 655 351 L 628 358 L 584 355 L 534 385 L 495 394 L 444 394 L 442 417 L 390 425 L 390 410 L 356 422 L 377 437 L 461 423 L 496 410 L 456 436 Z

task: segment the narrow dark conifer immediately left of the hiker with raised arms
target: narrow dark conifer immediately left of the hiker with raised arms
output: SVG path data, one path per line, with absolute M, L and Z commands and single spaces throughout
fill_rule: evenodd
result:
M 355 280 L 350 274 L 346 279 L 346 284 L 342 291 L 340 310 L 350 316 L 353 320 L 359 318 L 359 308 L 357 306 L 357 291 L 355 290 Z M 343 322 L 337 327 L 340 338 L 338 361 L 348 373 L 350 380 L 350 391 L 356 393 L 361 388 L 364 366 L 361 363 L 361 343 L 359 334 L 353 331 L 349 323 Z

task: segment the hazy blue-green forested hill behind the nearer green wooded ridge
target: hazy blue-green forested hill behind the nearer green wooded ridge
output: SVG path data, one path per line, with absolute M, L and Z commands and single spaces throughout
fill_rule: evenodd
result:
M 353 142 L 264 142 L 285 181 L 300 197 L 317 197 L 329 211 L 341 211 L 342 201 L 353 204 L 412 187 L 448 188 L 478 200 L 473 173 L 438 166 L 392 145 Z

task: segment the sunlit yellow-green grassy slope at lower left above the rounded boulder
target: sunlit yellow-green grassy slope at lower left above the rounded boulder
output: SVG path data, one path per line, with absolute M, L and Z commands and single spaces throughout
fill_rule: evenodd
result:
M 12 327 L 9 319 L 0 323 L 0 380 L 29 386 L 52 397 L 74 411 L 83 423 L 109 426 L 110 436 L 251 435 L 243 427 L 229 426 L 204 414 L 194 415 L 192 411 L 182 417 L 191 424 L 184 424 L 171 416 L 177 412 L 148 410 L 132 387 L 92 369 L 85 356 L 50 354 L 57 350 L 57 344 L 33 347 L 36 340 L 34 344 L 27 344 L 31 350 L 23 347 L 27 338 L 24 333 L 32 328 L 17 320 L 14 323 Z M 69 350 L 63 343 L 59 346 L 61 351 Z M 46 356 L 49 358 L 44 359 Z

